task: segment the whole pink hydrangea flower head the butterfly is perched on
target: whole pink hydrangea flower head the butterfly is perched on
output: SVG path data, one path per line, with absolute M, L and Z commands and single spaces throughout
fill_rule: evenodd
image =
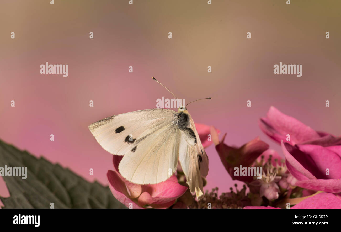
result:
M 241 190 L 235 185 L 236 192 L 230 188 L 231 192 L 218 195 L 217 187 L 206 190 L 198 201 L 180 166 L 165 182 L 136 185 L 118 173 L 118 156 L 115 170 L 107 174 L 109 187 L 116 199 L 133 208 L 341 208 L 341 137 L 314 131 L 273 106 L 259 125 L 281 146 L 285 159 L 259 138 L 232 147 L 224 143 L 226 134 L 219 140 L 219 130 L 196 124 L 204 147 L 214 143 L 227 173 L 245 183 Z M 236 171 L 239 167 L 243 175 Z M 247 173 L 250 170 L 253 175 Z M 205 186 L 204 178 L 203 182 Z

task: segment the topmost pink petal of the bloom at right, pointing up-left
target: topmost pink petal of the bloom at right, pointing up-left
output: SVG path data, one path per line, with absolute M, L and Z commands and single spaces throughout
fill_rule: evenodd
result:
M 308 140 L 319 139 L 320 135 L 297 119 L 287 116 L 271 106 L 266 118 L 260 121 L 260 127 L 264 133 L 277 142 L 286 141 L 286 135 L 290 134 L 288 143 L 294 145 Z

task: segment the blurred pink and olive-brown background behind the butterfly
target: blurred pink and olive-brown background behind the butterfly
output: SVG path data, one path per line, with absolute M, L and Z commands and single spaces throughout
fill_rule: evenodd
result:
M 195 122 L 227 132 L 228 145 L 260 136 L 283 156 L 258 127 L 271 105 L 315 130 L 341 134 L 340 2 L 128 2 L 1 1 L 1 140 L 107 184 L 112 155 L 88 125 L 172 98 L 152 76 L 187 103 L 212 97 L 187 108 Z M 40 74 L 45 62 L 69 64 L 69 76 Z M 273 74 L 279 62 L 302 64 L 302 76 Z M 240 189 L 214 146 L 206 151 L 205 189 Z

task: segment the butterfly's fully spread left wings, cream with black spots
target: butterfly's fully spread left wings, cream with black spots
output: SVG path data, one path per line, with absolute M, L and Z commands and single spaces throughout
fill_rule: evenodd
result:
M 120 114 L 89 126 L 99 144 L 124 155 L 119 173 L 135 184 L 157 184 L 176 170 L 180 137 L 177 113 L 150 109 Z

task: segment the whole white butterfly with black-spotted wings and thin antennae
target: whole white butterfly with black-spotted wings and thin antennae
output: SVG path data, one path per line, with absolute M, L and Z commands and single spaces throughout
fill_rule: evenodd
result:
M 119 114 L 94 122 L 89 129 L 106 151 L 124 155 L 118 169 L 128 181 L 163 182 L 174 174 L 179 160 L 190 191 L 203 197 L 208 157 L 186 106 L 180 104 L 178 112 L 156 108 Z

